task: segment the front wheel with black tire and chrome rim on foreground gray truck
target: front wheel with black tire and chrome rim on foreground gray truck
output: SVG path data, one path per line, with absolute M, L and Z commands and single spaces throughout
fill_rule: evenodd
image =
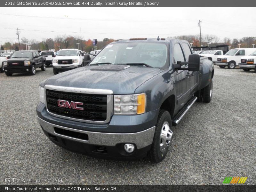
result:
M 148 151 L 148 157 L 152 163 L 159 163 L 166 156 L 173 136 L 171 128 L 172 119 L 170 113 L 160 109 L 153 142 L 151 149 Z

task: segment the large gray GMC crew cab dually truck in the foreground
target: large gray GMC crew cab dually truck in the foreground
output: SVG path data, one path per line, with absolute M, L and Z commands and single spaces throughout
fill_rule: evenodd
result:
M 116 41 L 88 66 L 40 83 L 38 121 L 68 150 L 119 160 L 148 155 L 157 163 L 172 126 L 196 100 L 211 101 L 213 74 L 212 61 L 192 54 L 187 41 Z

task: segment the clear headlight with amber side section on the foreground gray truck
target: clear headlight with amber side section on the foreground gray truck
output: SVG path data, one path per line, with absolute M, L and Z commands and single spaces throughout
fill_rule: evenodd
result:
M 146 94 L 115 95 L 114 115 L 135 115 L 145 113 Z

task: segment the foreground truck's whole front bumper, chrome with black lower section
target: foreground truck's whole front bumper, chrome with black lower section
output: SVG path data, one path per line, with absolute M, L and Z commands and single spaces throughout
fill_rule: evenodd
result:
M 38 118 L 45 135 L 56 145 L 88 156 L 118 160 L 140 159 L 151 147 L 155 126 L 135 133 L 89 132 L 51 124 Z M 124 150 L 125 143 L 135 145 L 132 153 Z

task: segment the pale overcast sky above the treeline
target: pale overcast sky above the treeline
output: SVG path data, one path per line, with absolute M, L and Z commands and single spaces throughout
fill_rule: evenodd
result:
M 18 42 L 14 29 L 17 27 L 20 28 L 20 39 L 26 37 L 38 41 L 63 34 L 80 36 L 80 28 L 84 39 L 98 40 L 105 37 L 127 39 L 196 35 L 199 34 L 199 19 L 203 20 L 202 34 L 216 35 L 220 39 L 256 36 L 256 12 L 253 7 L 1 7 L 0 16 L 1 44 Z

